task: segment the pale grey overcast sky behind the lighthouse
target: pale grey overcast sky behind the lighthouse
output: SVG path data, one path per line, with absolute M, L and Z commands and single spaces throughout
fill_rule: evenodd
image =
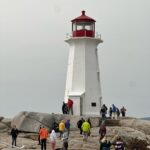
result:
M 61 112 L 70 20 L 96 20 L 103 103 L 150 116 L 150 0 L 0 0 L 0 116 Z

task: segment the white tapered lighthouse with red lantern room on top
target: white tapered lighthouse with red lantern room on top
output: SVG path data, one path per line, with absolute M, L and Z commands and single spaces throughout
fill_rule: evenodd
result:
M 99 115 L 102 95 L 98 63 L 100 36 L 95 35 L 95 20 L 85 11 L 71 20 L 72 33 L 65 42 L 69 44 L 69 59 L 64 101 L 73 101 L 74 115 Z

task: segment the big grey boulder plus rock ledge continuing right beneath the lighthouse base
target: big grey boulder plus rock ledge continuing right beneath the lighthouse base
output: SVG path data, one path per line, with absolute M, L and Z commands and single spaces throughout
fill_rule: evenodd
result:
M 99 117 L 87 117 L 83 116 L 84 119 L 90 118 L 92 127 L 99 126 Z M 12 120 L 12 125 L 15 124 L 19 131 L 38 133 L 40 125 L 45 126 L 49 131 L 54 127 L 54 122 L 59 124 L 61 120 L 69 119 L 71 122 L 71 130 L 77 129 L 77 121 L 80 116 L 62 115 L 62 114 L 47 114 L 39 112 L 20 112 Z

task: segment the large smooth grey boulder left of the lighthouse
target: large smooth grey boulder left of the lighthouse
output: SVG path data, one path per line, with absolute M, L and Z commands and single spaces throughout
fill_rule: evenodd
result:
M 53 127 L 54 119 L 52 114 L 24 111 L 16 115 L 11 124 L 16 125 L 19 131 L 38 133 L 40 125 L 50 131 Z

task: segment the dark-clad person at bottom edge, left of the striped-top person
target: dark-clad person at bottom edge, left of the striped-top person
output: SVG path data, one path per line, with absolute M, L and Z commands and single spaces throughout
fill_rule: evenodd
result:
M 111 143 L 107 140 L 107 137 L 104 136 L 100 142 L 100 150 L 110 150 Z

